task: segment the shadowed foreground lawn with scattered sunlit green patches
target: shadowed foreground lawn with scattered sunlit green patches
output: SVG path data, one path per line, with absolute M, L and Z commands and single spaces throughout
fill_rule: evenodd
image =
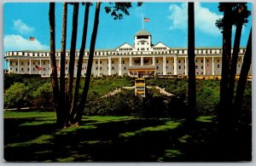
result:
M 216 123 L 183 120 L 84 118 L 79 128 L 54 131 L 42 118 L 4 120 L 4 158 L 39 162 L 188 162 L 223 161 Z M 37 123 L 35 123 L 37 122 Z M 32 123 L 35 125 L 22 125 Z M 250 138 L 249 135 L 247 138 Z M 245 138 L 245 139 L 247 139 Z M 249 145 L 248 145 L 249 146 Z M 240 147 L 243 150 L 247 147 Z M 236 160 L 248 160 L 249 151 Z

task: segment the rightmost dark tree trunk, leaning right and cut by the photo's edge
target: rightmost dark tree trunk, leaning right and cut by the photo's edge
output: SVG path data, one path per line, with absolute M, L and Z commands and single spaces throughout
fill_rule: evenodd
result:
M 237 111 L 241 111 L 242 98 L 247 83 L 247 76 L 252 63 L 252 28 L 247 42 L 247 50 L 243 57 L 243 63 L 241 66 L 241 73 L 236 88 L 235 108 Z M 236 113 L 237 114 L 237 113 Z

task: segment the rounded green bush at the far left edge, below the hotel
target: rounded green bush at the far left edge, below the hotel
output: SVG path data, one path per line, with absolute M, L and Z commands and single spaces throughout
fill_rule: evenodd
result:
M 27 105 L 27 90 L 25 83 L 14 83 L 5 90 L 3 94 L 4 107 L 6 108 L 20 108 Z

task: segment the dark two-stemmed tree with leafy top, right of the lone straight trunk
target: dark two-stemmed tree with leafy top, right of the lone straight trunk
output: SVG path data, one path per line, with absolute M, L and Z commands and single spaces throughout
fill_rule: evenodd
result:
M 247 23 L 247 18 L 251 14 L 247 10 L 247 3 L 219 3 L 219 11 L 224 12 L 224 17 L 217 20 L 216 26 L 223 32 L 223 62 L 222 79 L 220 83 L 220 104 L 219 104 L 219 122 L 224 124 L 221 128 L 228 127 L 232 123 L 231 112 L 234 98 L 235 77 L 238 53 L 240 50 L 241 29 Z M 236 36 L 231 54 L 231 33 L 232 26 L 236 26 Z M 230 115 L 232 115 L 230 117 Z

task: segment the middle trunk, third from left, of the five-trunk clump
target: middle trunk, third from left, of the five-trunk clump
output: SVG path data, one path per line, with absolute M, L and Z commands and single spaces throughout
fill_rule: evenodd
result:
M 70 57 L 69 57 L 69 67 L 68 67 L 68 78 L 67 78 L 67 94 L 66 94 L 66 104 L 67 110 L 70 111 L 72 102 L 72 92 L 73 92 L 73 72 L 74 72 L 74 61 L 76 53 L 77 44 L 77 31 L 78 31 L 78 19 L 79 19 L 79 3 L 73 4 L 73 29 L 72 38 L 70 46 Z

